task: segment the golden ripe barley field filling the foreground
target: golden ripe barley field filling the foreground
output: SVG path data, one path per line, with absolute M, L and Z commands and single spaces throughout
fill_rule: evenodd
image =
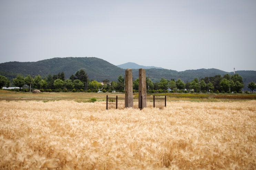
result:
M 256 169 L 256 101 L 0 101 L 0 169 Z

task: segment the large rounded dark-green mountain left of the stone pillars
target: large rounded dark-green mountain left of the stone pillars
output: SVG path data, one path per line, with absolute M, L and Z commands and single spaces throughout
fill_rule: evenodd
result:
M 45 77 L 48 74 L 54 75 L 63 71 L 67 79 L 79 69 L 84 69 L 88 73 L 90 80 L 102 81 L 108 79 L 116 81 L 118 76 L 124 75 L 124 69 L 96 57 L 65 57 L 36 62 L 12 61 L 1 63 L 0 75 L 6 76 L 9 79 L 15 78 L 18 73 L 23 76 L 31 75 L 32 73 L 33 75 Z

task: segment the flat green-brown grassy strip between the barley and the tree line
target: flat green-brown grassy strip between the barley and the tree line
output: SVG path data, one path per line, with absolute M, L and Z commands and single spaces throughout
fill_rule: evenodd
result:
M 29 92 L 13 92 L 7 90 L 0 90 L 0 100 L 35 100 L 35 101 L 54 101 L 67 100 L 76 102 L 87 102 L 91 98 L 96 98 L 97 101 L 106 101 L 108 97 L 124 97 L 124 93 L 85 93 L 85 92 L 42 92 L 34 94 Z M 153 96 L 154 94 L 147 94 Z M 188 101 L 229 101 L 229 100 L 256 100 L 256 94 L 228 94 L 228 93 L 155 93 L 155 96 L 166 95 L 167 101 L 188 100 Z M 138 93 L 134 93 L 137 97 Z

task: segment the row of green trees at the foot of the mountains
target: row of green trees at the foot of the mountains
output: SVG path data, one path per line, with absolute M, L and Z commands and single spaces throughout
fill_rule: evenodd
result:
M 25 86 L 26 85 L 26 86 Z M 69 79 L 65 79 L 64 72 L 59 72 L 55 75 L 47 75 L 42 78 L 40 75 L 32 77 L 28 75 L 23 77 L 17 75 L 16 78 L 8 80 L 6 77 L 0 75 L 0 88 L 5 86 L 9 88 L 11 86 L 19 87 L 19 91 L 31 91 L 31 89 L 40 89 L 42 91 L 86 91 L 97 92 L 102 90 L 106 91 L 124 91 L 125 82 L 124 77 L 120 75 L 117 81 L 110 82 L 105 79 L 102 82 L 96 80 L 89 80 L 88 74 L 83 69 L 75 72 Z M 26 88 L 28 87 L 28 88 Z M 161 78 L 159 82 L 153 83 L 149 77 L 146 77 L 147 92 L 242 92 L 244 88 L 244 82 L 242 76 L 238 74 L 230 76 L 229 74 L 216 75 L 213 77 L 205 77 L 197 79 L 195 78 L 191 82 L 183 82 L 178 80 L 167 80 Z M 252 81 L 247 86 L 253 90 L 256 88 L 256 84 Z M 133 81 L 134 92 L 139 90 L 139 78 Z

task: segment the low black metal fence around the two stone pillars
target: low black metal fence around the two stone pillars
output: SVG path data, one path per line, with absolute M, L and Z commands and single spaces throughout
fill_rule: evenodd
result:
M 146 99 L 143 99 L 142 96 L 135 97 L 128 99 L 129 102 L 133 102 L 133 108 L 134 109 L 141 109 L 139 108 L 139 100 L 141 100 L 142 106 L 144 107 L 157 107 L 157 108 L 164 108 L 166 107 L 166 95 L 165 97 L 146 97 Z M 124 97 L 106 97 L 106 109 L 124 109 L 125 108 L 125 98 Z M 143 104 L 143 103 L 146 103 Z

